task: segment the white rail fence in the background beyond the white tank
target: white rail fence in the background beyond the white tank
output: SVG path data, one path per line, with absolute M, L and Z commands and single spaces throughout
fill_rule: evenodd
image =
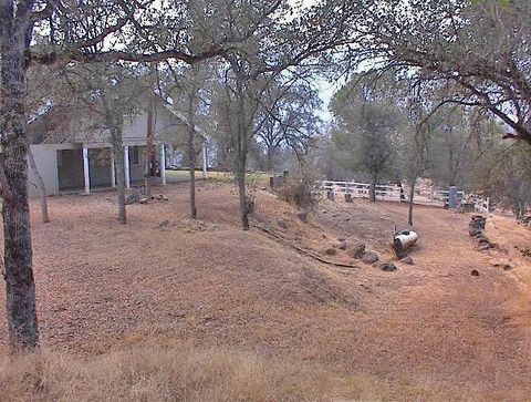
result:
M 350 194 L 353 198 L 368 198 L 371 184 L 356 182 L 335 182 L 324 181 L 319 183 L 320 188 L 325 192 L 332 192 L 334 196 Z M 409 195 L 409 188 L 398 185 L 377 185 L 376 198 L 381 200 L 400 202 L 406 200 Z M 415 190 L 415 203 L 445 207 L 448 205 L 449 190 L 435 190 L 418 188 Z M 458 208 L 466 199 L 465 192 L 457 192 Z M 480 213 L 488 213 L 489 198 L 475 197 L 475 209 Z

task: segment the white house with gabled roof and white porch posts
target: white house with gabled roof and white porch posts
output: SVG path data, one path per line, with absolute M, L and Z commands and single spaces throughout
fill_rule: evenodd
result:
M 158 99 L 155 107 L 155 145 L 158 150 L 160 183 L 166 184 L 166 148 L 185 145 L 190 125 L 179 112 Z M 123 132 L 126 186 L 144 179 L 147 112 L 125 116 Z M 91 193 L 116 186 L 114 157 L 107 130 L 94 126 L 85 110 L 51 107 L 28 126 L 30 147 L 48 195 Z M 206 135 L 194 127 L 207 172 Z M 38 195 L 34 173 L 29 169 L 30 195 Z

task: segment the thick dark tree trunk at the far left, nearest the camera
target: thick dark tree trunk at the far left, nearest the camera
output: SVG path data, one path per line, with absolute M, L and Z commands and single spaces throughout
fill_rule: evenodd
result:
M 24 110 L 24 35 L 13 21 L 13 2 L 0 3 L 3 151 L 3 244 L 9 344 L 13 352 L 39 348 L 35 282 L 28 204 L 28 140 Z

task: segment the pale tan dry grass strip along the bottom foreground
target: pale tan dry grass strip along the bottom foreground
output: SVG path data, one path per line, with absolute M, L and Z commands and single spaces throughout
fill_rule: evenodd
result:
M 0 362 L 2 401 L 330 401 L 339 378 L 311 364 L 229 350 L 142 346 L 83 361 L 41 352 Z M 350 396 L 381 398 L 364 378 Z M 343 391 L 344 392 L 344 391 Z

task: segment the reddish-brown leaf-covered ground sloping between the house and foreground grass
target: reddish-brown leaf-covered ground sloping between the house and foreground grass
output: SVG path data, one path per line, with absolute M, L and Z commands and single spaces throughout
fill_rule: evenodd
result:
M 356 398 L 360 378 L 382 400 L 531 399 L 531 258 L 514 248 L 531 246 L 529 228 L 489 217 L 500 250 L 480 252 L 469 215 L 418 206 L 415 265 L 384 272 L 341 250 L 326 258 L 357 268 L 321 264 L 290 245 L 317 255 L 344 237 L 391 258 L 405 205 L 323 202 L 304 224 L 259 190 L 243 233 L 229 185 L 199 185 L 197 223 L 186 184 L 164 194 L 169 202 L 128 206 L 125 227 L 113 193 L 50 198 L 46 225 L 32 205 L 44 348 L 83 359 L 147 340 L 249 350 L 336 373 L 336 400 Z M 2 351 L 6 338 L 0 316 Z

